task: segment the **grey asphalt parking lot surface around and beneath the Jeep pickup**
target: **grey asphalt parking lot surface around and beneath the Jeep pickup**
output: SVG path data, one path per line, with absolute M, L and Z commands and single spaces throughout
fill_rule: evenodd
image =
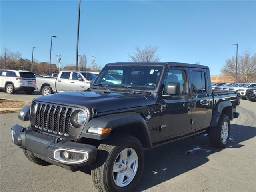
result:
M 144 172 L 134 192 L 255 192 L 256 102 L 241 100 L 237 111 L 240 117 L 231 122 L 230 140 L 224 149 L 213 148 L 208 136 L 202 135 L 146 151 Z M 10 136 L 14 124 L 29 124 L 17 115 L 0 115 L 1 192 L 96 192 L 88 171 L 73 173 L 27 160 Z

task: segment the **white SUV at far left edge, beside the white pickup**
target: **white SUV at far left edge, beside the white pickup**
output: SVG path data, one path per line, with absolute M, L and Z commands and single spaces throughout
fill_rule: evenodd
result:
M 34 91 L 35 75 L 29 71 L 0 70 L 0 89 L 6 90 L 8 94 L 15 91 L 25 91 L 31 94 Z

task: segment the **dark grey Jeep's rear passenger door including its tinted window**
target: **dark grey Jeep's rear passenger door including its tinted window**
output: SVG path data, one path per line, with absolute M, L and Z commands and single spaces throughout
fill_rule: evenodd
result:
M 206 70 L 191 69 L 192 79 L 192 113 L 191 113 L 191 129 L 200 129 L 204 124 L 207 110 L 210 105 L 210 97 L 208 94 Z

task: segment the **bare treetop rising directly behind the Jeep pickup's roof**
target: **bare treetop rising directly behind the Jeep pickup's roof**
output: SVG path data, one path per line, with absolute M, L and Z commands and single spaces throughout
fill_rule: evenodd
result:
M 135 53 L 128 53 L 128 58 L 134 62 L 159 61 L 162 57 L 157 54 L 158 47 L 150 44 L 140 48 L 135 46 Z

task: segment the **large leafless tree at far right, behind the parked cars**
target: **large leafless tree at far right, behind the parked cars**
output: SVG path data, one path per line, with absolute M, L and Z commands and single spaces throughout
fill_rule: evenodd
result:
M 226 60 L 226 65 L 221 68 L 223 75 L 236 77 L 236 57 Z M 251 55 L 250 51 L 238 56 L 237 61 L 237 82 L 246 83 L 256 81 L 256 53 Z

